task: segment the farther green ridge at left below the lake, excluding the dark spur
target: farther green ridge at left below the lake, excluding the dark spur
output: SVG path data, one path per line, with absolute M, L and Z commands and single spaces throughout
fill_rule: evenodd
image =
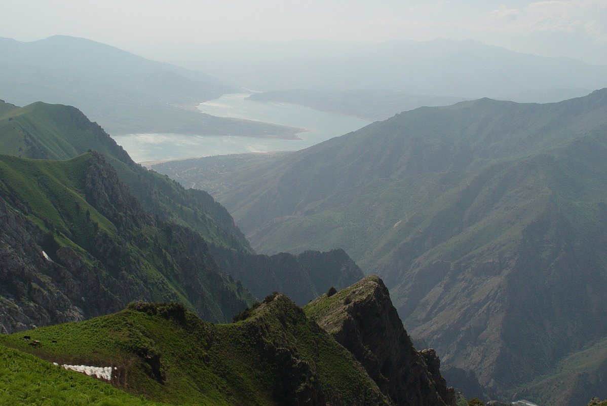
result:
M 25 158 L 65 160 L 92 149 L 103 154 L 145 209 L 163 220 L 189 226 L 209 242 L 248 250 L 249 245 L 222 206 L 202 191 L 135 164 L 101 127 L 77 109 L 33 103 L 15 107 L 0 103 L 0 153 Z

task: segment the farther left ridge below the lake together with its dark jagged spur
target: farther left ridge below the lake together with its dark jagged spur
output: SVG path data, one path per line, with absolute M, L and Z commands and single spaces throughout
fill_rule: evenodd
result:
M 0 103 L 0 152 L 58 160 L 90 150 L 107 158 L 129 192 L 156 221 L 200 233 L 220 266 L 251 283 L 257 297 L 280 289 L 293 294 L 298 303 L 306 303 L 330 286 L 343 288 L 363 277 L 344 252 L 311 252 L 299 259 L 290 254 L 273 259 L 255 255 L 231 215 L 209 194 L 185 190 L 168 177 L 134 163 L 100 126 L 75 107 Z

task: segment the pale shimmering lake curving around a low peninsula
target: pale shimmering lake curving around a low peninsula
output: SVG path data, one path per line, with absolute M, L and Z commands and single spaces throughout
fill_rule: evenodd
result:
M 136 162 L 240 154 L 242 152 L 296 151 L 329 138 L 347 134 L 370 121 L 320 112 L 291 103 L 246 100 L 251 93 L 237 93 L 201 103 L 198 109 L 218 117 L 246 118 L 307 129 L 301 140 L 253 138 L 240 135 L 126 134 L 112 138 Z

